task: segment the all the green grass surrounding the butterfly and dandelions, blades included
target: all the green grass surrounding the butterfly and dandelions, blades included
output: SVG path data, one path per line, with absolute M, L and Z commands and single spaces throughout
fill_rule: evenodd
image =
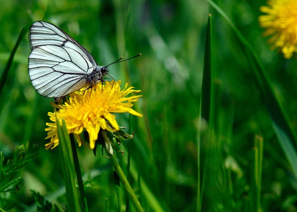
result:
M 83 190 L 70 141 L 45 150 L 52 100 L 35 91 L 25 60 L 26 24 L 36 20 L 58 25 L 102 65 L 142 53 L 109 73 L 142 90 L 134 109 L 144 117 L 117 115 L 135 135 L 113 162 L 144 211 L 296 211 L 296 58 L 261 37 L 264 0 L 232 2 L 2 3 L 0 211 L 137 210 L 100 146 L 96 157 L 76 147 Z

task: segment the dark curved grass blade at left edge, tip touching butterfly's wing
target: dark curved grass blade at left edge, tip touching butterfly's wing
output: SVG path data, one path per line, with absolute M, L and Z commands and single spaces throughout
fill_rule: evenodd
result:
M 6 79 L 7 79 L 7 76 L 8 76 L 8 71 L 10 69 L 14 54 L 16 53 L 17 48 L 20 46 L 22 40 L 24 39 L 24 36 L 27 34 L 27 32 L 28 32 L 31 25 L 32 25 L 32 23 L 29 23 L 26 26 L 24 26 L 24 28 L 22 29 L 22 31 L 21 31 L 21 33 L 20 33 L 14 47 L 13 47 L 11 53 L 10 53 L 9 59 L 8 59 L 8 61 L 6 63 L 6 66 L 5 66 L 4 70 L 3 70 L 3 73 L 2 73 L 1 78 L 0 78 L 0 96 L 2 94 L 4 84 L 6 82 Z

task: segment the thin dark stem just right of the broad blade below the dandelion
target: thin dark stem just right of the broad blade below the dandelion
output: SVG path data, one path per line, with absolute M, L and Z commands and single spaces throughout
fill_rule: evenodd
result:
M 72 149 L 72 155 L 73 155 L 73 161 L 74 161 L 74 168 L 75 168 L 75 172 L 76 172 L 77 183 L 78 183 L 80 197 L 81 197 L 81 201 L 82 201 L 82 205 L 83 205 L 83 210 L 85 212 L 89 212 L 88 205 L 87 205 L 87 199 L 86 199 L 86 195 L 85 195 L 83 178 L 82 178 L 82 172 L 79 167 L 79 161 L 78 161 L 78 156 L 77 156 L 77 151 L 76 151 L 73 134 L 70 134 L 70 141 L 71 141 L 71 149 Z

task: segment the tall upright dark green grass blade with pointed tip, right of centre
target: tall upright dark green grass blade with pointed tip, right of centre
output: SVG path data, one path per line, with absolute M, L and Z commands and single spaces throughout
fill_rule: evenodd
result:
M 201 126 L 201 119 L 204 118 L 208 122 L 208 139 L 210 138 L 210 132 L 212 130 L 212 112 L 213 112 L 213 71 L 212 71 L 212 29 L 211 29 L 211 14 L 208 15 L 206 39 L 205 39 L 205 50 L 204 50 L 204 67 L 202 76 L 202 91 L 200 99 L 200 118 L 199 126 Z M 197 187 L 197 211 L 201 211 L 202 205 L 202 189 L 200 188 L 200 128 L 198 130 L 198 187 Z M 203 175 L 204 177 L 204 175 Z M 203 179 L 204 182 L 204 179 Z M 202 186 L 203 188 L 203 186 Z

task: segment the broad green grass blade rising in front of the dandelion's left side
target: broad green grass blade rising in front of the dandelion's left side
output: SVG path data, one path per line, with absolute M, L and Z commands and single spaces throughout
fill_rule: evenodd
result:
M 67 206 L 70 212 L 80 212 L 79 196 L 76 189 L 76 174 L 74 168 L 71 143 L 67 133 L 66 123 L 63 120 L 62 126 L 57 120 L 57 131 L 59 137 L 59 152 L 66 188 Z

